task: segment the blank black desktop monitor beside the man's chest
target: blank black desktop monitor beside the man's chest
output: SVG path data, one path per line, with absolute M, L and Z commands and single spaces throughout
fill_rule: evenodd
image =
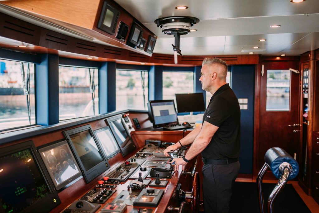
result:
M 177 112 L 188 113 L 188 112 L 204 112 L 205 101 L 204 94 L 199 93 L 188 93 L 188 94 L 175 94 Z

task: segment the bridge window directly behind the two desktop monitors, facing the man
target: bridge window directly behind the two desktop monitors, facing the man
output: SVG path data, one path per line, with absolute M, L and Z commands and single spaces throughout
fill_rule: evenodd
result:
M 163 100 L 173 99 L 176 93 L 194 93 L 194 72 L 163 72 Z

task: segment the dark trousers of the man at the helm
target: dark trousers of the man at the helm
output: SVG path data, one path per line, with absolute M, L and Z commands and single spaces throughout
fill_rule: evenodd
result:
M 239 161 L 229 165 L 204 164 L 202 173 L 205 213 L 229 212 L 232 188 L 239 168 Z

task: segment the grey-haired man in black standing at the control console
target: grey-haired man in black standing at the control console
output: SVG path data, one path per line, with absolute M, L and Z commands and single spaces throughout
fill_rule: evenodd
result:
M 206 213 L 229 212 L 232 187 L 240 168 L 240 108 L 236 95 L 226 83 L 226 76 L 225 61 L 218 58 L 204 59 L 199 80 L 202 89 L 210 92 L 212 97 L 204 113 L 203 123 L 164 151 L 169 156 L 169 151 L 192 143 L 185 156 L 173 159 L 177 171 L 179 165 L 184 170 L 190 159 L 202 154 Z

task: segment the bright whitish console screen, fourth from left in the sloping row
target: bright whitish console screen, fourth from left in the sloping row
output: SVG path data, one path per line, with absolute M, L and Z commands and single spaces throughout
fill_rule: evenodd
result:
M 120 152 L 120 148 L 115 141 L 114 135 L 109 126 L 94 131 L 107 159 L 112 158 Z

